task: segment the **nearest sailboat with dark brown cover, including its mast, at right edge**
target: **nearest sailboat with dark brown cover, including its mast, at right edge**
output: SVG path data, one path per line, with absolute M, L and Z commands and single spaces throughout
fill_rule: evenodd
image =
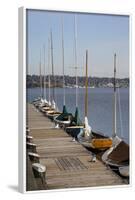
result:
M 114 54 L 114 108 L 113 108 L 113 135 L 112 135 L 112 147 L 109 148 L 102 155 L 102 160 L 104 163 L 117 167 L 120 173 L 126 170 L 125 174 L 129 173 L 127 170 L 129 169 L 129 145 L 125 143 L 118 135 L 117 135 L 117 124 L 116 124 L 116 54 Z

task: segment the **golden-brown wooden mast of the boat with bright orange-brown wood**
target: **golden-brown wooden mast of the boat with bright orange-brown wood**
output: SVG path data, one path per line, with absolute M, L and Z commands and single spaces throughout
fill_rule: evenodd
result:
M 86 50 L 85 117 L 88 115 L 88 50 Z

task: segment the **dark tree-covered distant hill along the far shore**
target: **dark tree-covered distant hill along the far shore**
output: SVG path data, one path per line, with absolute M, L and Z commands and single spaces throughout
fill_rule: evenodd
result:
M 63 87 L 63 76 L 50 76 L 51 87 Z M 43 76 L 42 76 L 43 84 Z M 40 87 L 40 76 L 37 75 L 27 75 L 26 85 L 28 88 Z M 45 85 L 48 87 L 48 76 L 45 77 Z M 117 87 L 129 87 L 129 78 L 118 78 L 116 79 Z M 75 87 L 75 77 L 74 76 L 65 76 L 65 86 L 66 87 Z M 85 86 L 85 77 L 78 77 L 78 86 Z M 113 87 L 113 78 L 99 78 L 99 77 L 88 77 L 88 87 Z

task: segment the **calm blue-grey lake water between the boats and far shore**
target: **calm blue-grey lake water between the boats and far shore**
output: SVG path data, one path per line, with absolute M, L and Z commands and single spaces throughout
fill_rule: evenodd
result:
M 69 112 L 75 112 L 75 88 L 66 88 L 66 106 Z M 118 90 L 117 90 L 118 91 Z M 52 93 L 52 91 L 51 91 Z M 63 107 L 63 90 L 56 88 L 56 103 L 59 110 Z M 120 88 L 117 92 L 117 135 L 129 143 L 129 89 Z M 48 97 L 48 89 L 46 92 Z M 40 96 L 40 88 L 27 89 L 27 101 L 32 102 Z M 120 101 L 119 101 L 120 99 Z M 78 89 L 78 107 L 80 119 L 84 120 L 85 89 Z M 88 89 L 88 120 L 93 130 L 111 136 L 113 130 L 113 88 Z

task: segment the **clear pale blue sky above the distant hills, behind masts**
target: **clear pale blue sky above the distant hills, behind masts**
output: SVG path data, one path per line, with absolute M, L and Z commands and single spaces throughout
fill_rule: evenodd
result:
M 116 53 L 117 77 L 129 77 L 129 16 L 41 10 L 27 10 L 28 74 L 39 75 L 40 52 L 42 69 L 45 58 L 46 74 L 51 73 L 48 40 L 52 30 L 54 74 L 62 75 L 63 21 L 65 75 L 75 75 L 75 16 L 78 76 L 85 75 L 87 49 L 89 76 L 113 77 Z

